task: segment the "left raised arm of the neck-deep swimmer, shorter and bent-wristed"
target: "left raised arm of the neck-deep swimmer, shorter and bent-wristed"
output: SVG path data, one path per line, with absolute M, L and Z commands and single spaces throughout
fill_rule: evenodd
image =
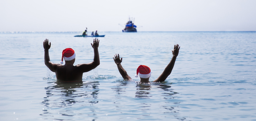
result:
M 121 60 L 120 60 L 120 57 L 119 57 L 119 54 L 118 54 L 118 55 L 115 55 L 115 58 L 113 57 L 113 59 L 114 59 L 116 65 L 117 65 L 118 71 L 120 72 L 122 77 L 124 79 L 127 79 L 127 80 L 132 80 L 132 78 L 127 74 L 127 72 L 124 70 L 124 68 L 121 65 L 121 62 L 122 62 L 123 58 L 121 58 Z

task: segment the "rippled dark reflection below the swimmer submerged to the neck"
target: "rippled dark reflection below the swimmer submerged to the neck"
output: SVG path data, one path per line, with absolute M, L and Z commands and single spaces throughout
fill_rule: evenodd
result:
M 133 108 L 136 107 L 136 114 L 144 117 L 144 120 L 151 120 L 149 117 L 154 117 L 156 111 L 160 114 L 168 114 L 177 120 L 186 120 L 184 117 L 179 117 L 179 105 L 182 101 L 175 96 L 178 92 L 171 87 L 172 83 L 117 82 L 118 84 L 112 88 L 116 91 L 117 97 L 115 110 L 129 114 L 130 110 L 135 110 Z M 131 88 L 133 84 L 135 86 Z M 134 102 L 126 104 L 126 100 L 134 100 Z

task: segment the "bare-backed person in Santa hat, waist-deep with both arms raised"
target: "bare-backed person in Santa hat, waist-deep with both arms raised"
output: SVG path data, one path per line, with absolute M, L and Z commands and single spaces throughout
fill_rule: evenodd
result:
M 84 72 L 91 71 L 100 65 L 100 56 L 99 56 L 99 42 L 100 40 L 93 39 L 92 48 L 94 50 L 94 59 L 91 63 L 88 64 L 77 64 L 74 66 L 76 53 L 73 49 L 67 48 L 62 51 L 61 64 L 54 64 L 50 61 L 49 49 L 51 43 L 49 44 L 48 39 L 45 39 L 44 44 L 44 63 L 45 65 L 53 72 L 55 72 L 58 80 L 65 81 L 82 81 L 82 76 Z M 65 65 L 63 64 L 63 59 L 65 60 Z

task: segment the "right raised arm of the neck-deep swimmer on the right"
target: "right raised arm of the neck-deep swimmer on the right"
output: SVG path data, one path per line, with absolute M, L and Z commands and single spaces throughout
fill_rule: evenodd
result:
M 164 82 L 164 80 L 171 74 L 176 57 L 179 54 L 179 44 L 177 44 L 176 46 L 174 45 L 174 50 L 172 51 L 172 60 L 170 61 L 170 63 L 165 67 L 164 72 L 153 82 Z

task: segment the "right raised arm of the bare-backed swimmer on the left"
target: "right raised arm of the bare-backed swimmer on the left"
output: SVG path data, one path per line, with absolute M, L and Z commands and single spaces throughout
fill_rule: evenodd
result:
M 100 40 L 98 40 L 96 38 L 93 39 L 93 44 L 91 43 L 92 48 L 94 50 L 93 61 L 89 64 L 78 64 L 78 65 L 76 65 L 77 67 L 79 66 L 80 71 L 82 71 L 82 72 L 91 71 L 92 69 L 94 69 L 98 65 L 100 65 L 100 55 L 99 55 L 99 51 L 98 51 L 99 43 L 100 43 Z

